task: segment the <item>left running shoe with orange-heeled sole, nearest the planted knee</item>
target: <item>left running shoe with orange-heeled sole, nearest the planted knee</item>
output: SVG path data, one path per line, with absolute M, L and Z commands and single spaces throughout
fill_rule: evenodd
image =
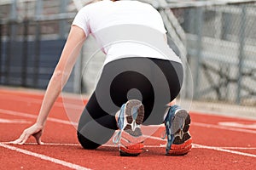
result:
M 143 152 L 143 118 L 144 106 L 141 101 L 131 99 L 122 105 L 118 118 L 119 132 L 113 137 L 113 143 L 118 144 L 120 156 L 138 156 Z

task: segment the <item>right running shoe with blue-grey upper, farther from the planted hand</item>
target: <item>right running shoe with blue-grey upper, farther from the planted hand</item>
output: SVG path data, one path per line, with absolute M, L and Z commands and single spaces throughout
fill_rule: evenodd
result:
M 173 105 L 167 110 L 165 118 L 166 135 L 166 155 L 183 156 L 192 148 L 192 139 L 189 134 L 189 124 L 191 122 L 188 111 L 181 109 L 178 105 Z

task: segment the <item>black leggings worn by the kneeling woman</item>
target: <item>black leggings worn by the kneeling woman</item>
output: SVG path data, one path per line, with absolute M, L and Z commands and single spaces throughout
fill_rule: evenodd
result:
M 175 61 L 132 57 L 103 67 L 79 120 L 78 139 L 85 149 L 105 144 L 118 129 L 115 114 L 129 99 L 145 108 L 143 125 L 163 122 L 166 104 L 175 99 L 183 83 L 183 66 Z

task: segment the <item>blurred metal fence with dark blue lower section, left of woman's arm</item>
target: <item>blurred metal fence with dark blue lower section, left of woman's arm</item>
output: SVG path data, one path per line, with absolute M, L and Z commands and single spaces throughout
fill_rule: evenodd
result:
M 77 13 L 72 1 L 3 1 L 0 11 L 0 84 L 46 88 Z

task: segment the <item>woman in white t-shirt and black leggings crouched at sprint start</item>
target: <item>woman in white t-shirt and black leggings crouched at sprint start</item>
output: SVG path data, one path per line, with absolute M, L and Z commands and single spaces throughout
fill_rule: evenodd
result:
M 143 151 L 141 125 L 165 123 L 166 155 L 191 149 L 189 113 L 176 105 L 183 82 L 183 65 L 166 43 L 160 14 L 138 1 L 96 1 L 76 15 L 44 94 L 35 124 L 12 144 L 41 135 L 49 111 L 73 70 L 86 37 L 91 34 L 106 54 L 102 75 L 79 120 L 78 139 L 94 150 L 113 137 L 120 156 Z M 171 102 L 172 101 L 172 102 Z M 171 103 L 170 103 L 171 102 Z

